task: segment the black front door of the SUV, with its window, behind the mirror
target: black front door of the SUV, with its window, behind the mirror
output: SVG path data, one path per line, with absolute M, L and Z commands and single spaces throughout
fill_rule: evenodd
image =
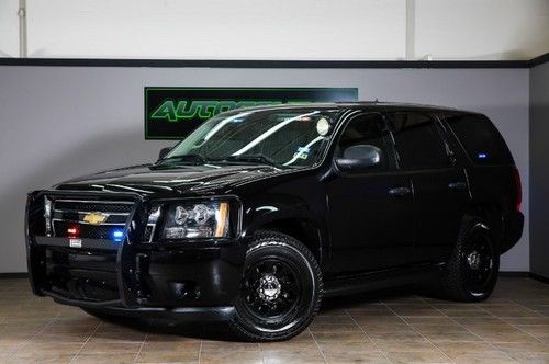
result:
M 357 145 L 381 149 L 381 163 L 326 182 L 332 235 L 330 271 L 358 273 L 405 264 L 414 242 L 414 196 L 407 173 L 395 169 L 390 133 L 380 113 L 348 121 L 334 158 Z

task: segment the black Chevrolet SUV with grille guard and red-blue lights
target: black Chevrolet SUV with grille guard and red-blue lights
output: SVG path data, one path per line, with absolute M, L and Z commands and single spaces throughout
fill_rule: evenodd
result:
M 152 164 L 29 195 L 36 295 L 97 316 L 304 330 L 321 299 L 436 277 L 485 299 L 523 230 L 520 180 L 478 113 L 397 103 L 220 114 Z

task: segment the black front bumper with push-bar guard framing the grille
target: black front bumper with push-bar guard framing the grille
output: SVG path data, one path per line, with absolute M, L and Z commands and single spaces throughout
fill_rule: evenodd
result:
M 101 309 L 121 316 L 225 319 L 233 312 L 246 254 L 243 239 L 155 243 L 143 241 L 146 202 L 137 194 L 109 194 L 135 202 L 123 242 L 82 238 L 75 248 L 69 238 L 40 234 L 41 211 L 29 197 L 27 263 L 32 289 L 60 304 Z M 40 204 L 37 204 L 40 205 Z M 42 218 L 43 220 L 43 218 Z M 40 225 L 40 224 L 38 224 Z

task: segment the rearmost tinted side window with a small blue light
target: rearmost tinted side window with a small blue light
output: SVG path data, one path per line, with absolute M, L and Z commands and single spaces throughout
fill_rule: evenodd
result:
M 447 115 L 446 122 L 477 164 L 513 164 L 502 135 L 484 115 Z

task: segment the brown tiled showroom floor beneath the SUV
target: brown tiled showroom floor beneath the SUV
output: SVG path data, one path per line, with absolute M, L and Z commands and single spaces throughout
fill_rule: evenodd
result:
M 1 363 L 549 363 L 549 285 L 504 277 L 478 305 L 394 291 L 334 298 L 291 341 L 229 340 L 210 325 L 103 322 L 0 280 Z

